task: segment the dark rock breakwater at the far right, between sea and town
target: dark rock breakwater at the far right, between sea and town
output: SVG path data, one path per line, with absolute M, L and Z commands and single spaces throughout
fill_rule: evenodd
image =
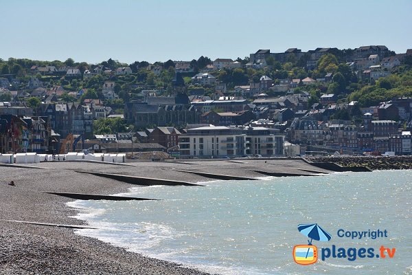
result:
M 400 170 L 412 169 L 412 156 L 393 157 L 306 157 L 308 164 L 333 170 L 341 166 L 343 172 L 351 170 L 353 172 L 363 172 L 367 170 Z M 332 167 L 333 166 L 333 167 Z

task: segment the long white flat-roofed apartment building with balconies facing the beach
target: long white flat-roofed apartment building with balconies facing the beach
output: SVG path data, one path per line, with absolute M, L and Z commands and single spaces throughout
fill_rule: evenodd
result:
M 179 136 L 181 157 L 283 155 L 284 135 L 264 127 L 203 126 Z

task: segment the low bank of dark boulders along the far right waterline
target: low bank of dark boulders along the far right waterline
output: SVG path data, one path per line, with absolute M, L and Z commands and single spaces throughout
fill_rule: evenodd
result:
M 335 163 L 343 167 L 371 170 L 412 169 L 412 156 L 393 157 L 306 157 L 308 162 Z

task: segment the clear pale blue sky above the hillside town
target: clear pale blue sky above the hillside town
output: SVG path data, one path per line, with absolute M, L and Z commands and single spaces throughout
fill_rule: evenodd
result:
M 259 49 L 412 48 L 411 0 L 0 0 L 0 58 L 244 58 Z

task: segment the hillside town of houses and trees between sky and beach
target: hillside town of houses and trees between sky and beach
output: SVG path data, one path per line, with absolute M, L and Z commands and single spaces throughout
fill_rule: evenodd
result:
M 0 153 L 411 155 L 412 49 L 130 65 L 0 60 Z M 152 153 L 150 153 L 152 152 Z

